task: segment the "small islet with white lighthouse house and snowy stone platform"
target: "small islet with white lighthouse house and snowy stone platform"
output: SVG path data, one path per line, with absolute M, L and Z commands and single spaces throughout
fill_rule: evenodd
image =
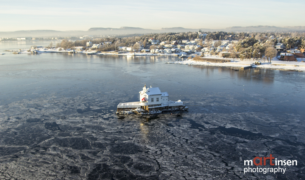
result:
M 145 86 L 140 93 L 140 101 L 125 102 L 117 105 L 117 114 L 156 114 L 163 111 L 188 110 L 181 100 L 170 101 L 167 92 L 159 87 Z

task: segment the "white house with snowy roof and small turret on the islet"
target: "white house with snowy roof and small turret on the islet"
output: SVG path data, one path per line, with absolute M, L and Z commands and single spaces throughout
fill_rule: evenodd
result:
M 140 105 L 147 106 L 147 105 L 161 105 L 168 103 L 168 94 L 167 92 L 161 93 L 159 87 L 152 87 L 149 88 L 145 86 L 140 93 Z

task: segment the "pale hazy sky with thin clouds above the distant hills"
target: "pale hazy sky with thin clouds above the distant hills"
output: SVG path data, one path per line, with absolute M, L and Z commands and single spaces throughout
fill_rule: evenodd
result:
M 305 26 L 304 0 L 1 0 L 0 31 Z

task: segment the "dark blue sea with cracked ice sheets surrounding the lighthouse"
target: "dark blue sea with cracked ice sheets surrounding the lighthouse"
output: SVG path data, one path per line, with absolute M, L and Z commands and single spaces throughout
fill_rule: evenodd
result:
M 305 179 L 304 72 L 3 53 L 0 179 Z M 116 115 L 145 83 L 205 106 Z M 269 154 L 298 164 L 244 173 L 244 160 Z

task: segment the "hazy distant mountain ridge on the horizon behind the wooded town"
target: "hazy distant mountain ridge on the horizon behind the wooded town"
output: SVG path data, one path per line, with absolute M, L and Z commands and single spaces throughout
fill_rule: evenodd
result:
M 305 26 L 293 27 L 276 27 L 276 26 L 233 26 L 224 29 L 207 29 L 200 28 L 203 32 L 226 31 L 226 32 L 305 32 Z M 55 30 L 28 30 L 28 31 L 10 31 L 0 32 L 0 38 L 16 38 L 16 37 L 68 37 L 68 36 L 98 36 L 98 35 L 123 35 L 123 34 L 147 34 L 147 33 L 168 33 L 168 32 L 194 32 L 199 29 L 190 29 L 182 27 L 161 28 L 161 29 L 144 29 L 135 27 L 121 28 L 90 28 L 88 31 L 55 31 Z

